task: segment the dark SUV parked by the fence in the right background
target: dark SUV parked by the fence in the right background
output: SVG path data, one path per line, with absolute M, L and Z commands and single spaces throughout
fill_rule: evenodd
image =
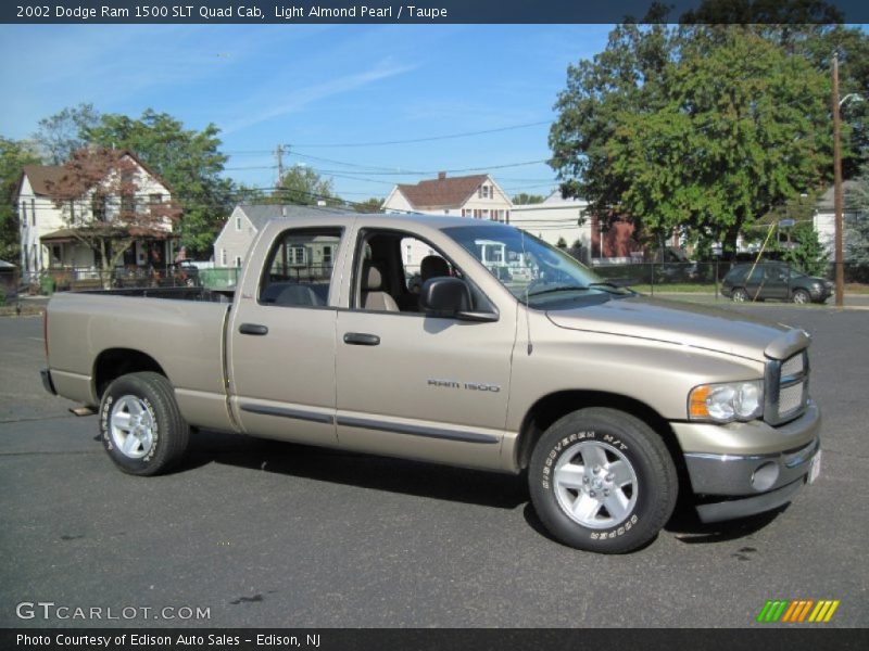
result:
M 745 301 L 793 301 L 823 303 L 833 283 L 792 269 L 784 263 L 735 265 L 721 281 L 721 294 L 738 303 Z

